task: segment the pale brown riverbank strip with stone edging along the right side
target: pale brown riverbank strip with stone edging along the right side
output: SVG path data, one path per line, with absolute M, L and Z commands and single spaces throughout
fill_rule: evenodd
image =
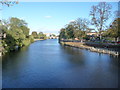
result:
M 113 51 L 113 50 L 108 50 L 107 48 L 106 49 L 105 48 L 95 48 L 92 45 L 89 46 L 86 44 L 86 42 L 64 42 L 64 41 L 61 41 L 60 44 L 62 44 L 64 46 L 70 46 L 70 47 L 75 47 L 75 48 L 80 48 L 80 49 L 87 49 L 92 52 L 110 54 L 110 55 L 114 55 L 114 56 L 120 55 L 119 52 Z

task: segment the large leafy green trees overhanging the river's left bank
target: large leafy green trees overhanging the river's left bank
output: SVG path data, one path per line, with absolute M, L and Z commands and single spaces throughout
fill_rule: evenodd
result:
M 2 40 L 2 46 L 6 51 L 27 46 L 33 42 L 27 23 L 18 18 L 12 17 L 2 21 L 2 33 L 6 33 L 6 38 Z

